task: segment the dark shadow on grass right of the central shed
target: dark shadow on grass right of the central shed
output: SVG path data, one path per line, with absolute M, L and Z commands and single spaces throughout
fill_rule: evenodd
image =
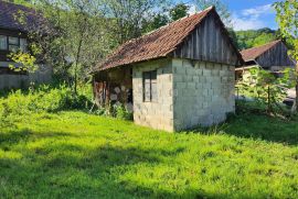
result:
M 298 121 L 286 121 L 262 114 L 238 114 L 225 123 L 202 129 L 196 132 L 205 134 L 225 133 L 240 137 L 264 140 L 288 145 L 298 144 Z

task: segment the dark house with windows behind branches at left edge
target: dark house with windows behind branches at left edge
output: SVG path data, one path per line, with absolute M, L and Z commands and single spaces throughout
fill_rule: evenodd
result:
M 28 51 L 29 31 L 34 31 L 44 19 L 33 9 L 0 0 L 0 89 L 26 87 L 29 82 L 49 82 L 52 68 L 42 62 L 34 74 L 14 71 L 9 68 L 14 64 L 8 57 L 13 51 Z

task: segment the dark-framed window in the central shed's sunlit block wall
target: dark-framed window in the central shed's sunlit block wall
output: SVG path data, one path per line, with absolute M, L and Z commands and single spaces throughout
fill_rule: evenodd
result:
M 157 101 L 157 70 L 142 74 L 143 101 Z

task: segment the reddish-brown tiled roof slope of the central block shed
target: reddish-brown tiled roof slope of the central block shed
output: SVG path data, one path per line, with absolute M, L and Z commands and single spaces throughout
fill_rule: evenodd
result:
M 174 21 L 139 38 L 126 42 L 104 63 L 98 64 L 94 71 L 167 57 L 211 11 L 215 11 L 215 8 L 210 7 L 202 12 Z

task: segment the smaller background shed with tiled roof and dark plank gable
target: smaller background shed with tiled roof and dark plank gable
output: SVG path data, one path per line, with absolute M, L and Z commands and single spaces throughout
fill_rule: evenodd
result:
M 253 66 L 278 74 L 280 70 L 295 67 L 295 62 L 288 55 L 288 48 L 281 40 L 241 52 L 245 65 L 236 68 L 236 79 Z

